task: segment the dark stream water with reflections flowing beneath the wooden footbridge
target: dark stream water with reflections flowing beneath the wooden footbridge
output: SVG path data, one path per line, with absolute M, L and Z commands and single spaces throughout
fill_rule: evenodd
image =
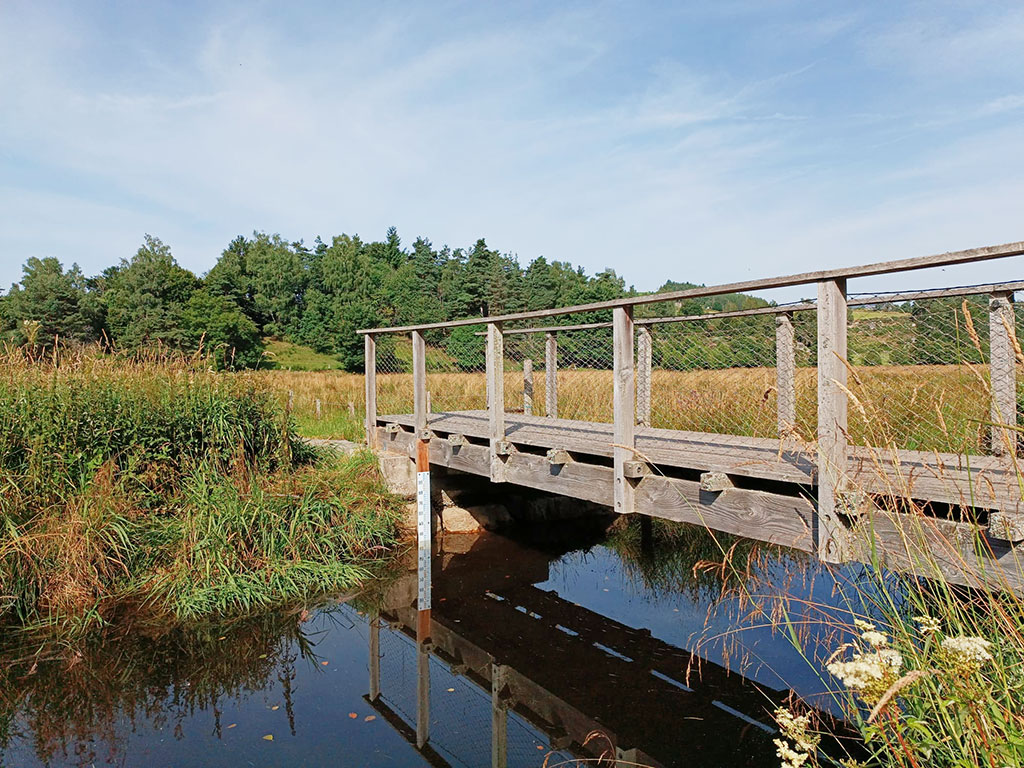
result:
M 771 710 L 791 689 L 830 707 L 781 611 L 827 654 L 838 609 L 807 598 L 834 605 L 833 577 L 740 543 L 723 586 L 701 530 L 590 527 L 447 537 L 425 644 L 398 568 L 305 610 L 23 659 L 0 766 L 777 766 Z

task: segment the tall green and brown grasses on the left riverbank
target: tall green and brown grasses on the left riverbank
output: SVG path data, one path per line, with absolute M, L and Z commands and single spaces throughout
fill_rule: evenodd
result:
M 0 359 L 0 622 L 191 620 L 351 588 L 395 545 L 367 454 L 319 456 L 207 359 Z

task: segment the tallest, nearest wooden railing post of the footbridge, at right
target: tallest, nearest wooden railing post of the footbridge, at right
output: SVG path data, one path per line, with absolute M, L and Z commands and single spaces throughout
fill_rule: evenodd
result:
M 846 280 L 818 283 L 818 557 L 843 559 L 839 495 L 847 471 Z

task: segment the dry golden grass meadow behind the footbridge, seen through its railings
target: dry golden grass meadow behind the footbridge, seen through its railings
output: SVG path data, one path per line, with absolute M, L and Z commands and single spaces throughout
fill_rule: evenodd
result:
M 308 436 L 362 435 L 364 379 L 341 372 L 270 371 L 263 377 L 287 401 Z M 816 428 L 813 368 L 797 372 L 797 432 L 812 439 Z M 544 372 L 535 373 L 534 413 L 544 414 Z M 1019 377 L 1024 381 L 1024 376 Z M 413 410 L 410 374 L 379 374 L 378 413 L 407 414 Z M 486 407 L 484 375 L 428 373 L 431 410 L 481 410 Z M 558 416 L 564 419 L 611 421 L 611 372 L 558 372 Z M 962 366 L 870 366 L 851 368 L 849 380 L 850 438 L 858 444 L 901 449 L 983 453 L 988 431 L 987 371 Z M 506 371 L 506 410 L 521 412 L 521 371 Z M 316 401 L 321 402 L 319 418 Z M 669 429 L 759 437 L 777 436 L 775 370 L 773 368 L 652 373 L 651 425 Z

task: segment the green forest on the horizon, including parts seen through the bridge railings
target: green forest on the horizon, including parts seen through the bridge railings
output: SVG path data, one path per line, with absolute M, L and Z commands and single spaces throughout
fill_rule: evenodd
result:
M 360 371 L 360 328 L 436 323 L 547 309 L 636 295 L 612 269 L 588 275 L 567 261 L 538 257 L 523 266 L 512 254 L 479 239 L 470 248 L 440 249 L 426 238 L 403 247 L 394 227 L 381 241 L 358 236 L 321 238 L 307 246 L 279 234 L 233 239 L 203 275 L 177 263 L 171 249 L 146 234 L 138 250 L 99 274 L 66 268 L 53 256 L 31 257 L 19 283 L 0 296 L 0 336 L 47 348 L 55 342 L 99 343 L 135 351 L 161 347 L 202 350 L 219 368 L 272 366 L 267 345 L 291 342 L 329 355 L 337 368 Z M 667 282 L 662 291 L 695 287 Z M 766 306 L 763 299 L 727 294 L 638 307 L 638 316 L 710 314 Z M 987 335 L 983 297 L 970 301 L 975 325 Z M 977 311 L 975 311 L 977 310 Z M 947 299 L 880 305 L 851 311 L 850 357 L 855 365 L 954 362 L 980 357 L 964 334 L 962 301 Z M 561 315 L 556 325 L 602 322 L 610 313 Z M 694 368 L 774 364 L 770 315 L 656 326 L 655 365 Z M 812 312 L 796 315 L 802 365 L 813 365 Z M 482 367 L 478 328 L 433 331 L 428 343 L 462 370 Z M 607 338 L 605 338 L 607 337 Z M 540 337 L 509 338 L 536 344 Z M 389 353 L 382 339 L 379 354 Z M 568 366 L 610 365 L 610 331 L 565 334 Z M 392 368 L 399 366 L 391 358 Z

